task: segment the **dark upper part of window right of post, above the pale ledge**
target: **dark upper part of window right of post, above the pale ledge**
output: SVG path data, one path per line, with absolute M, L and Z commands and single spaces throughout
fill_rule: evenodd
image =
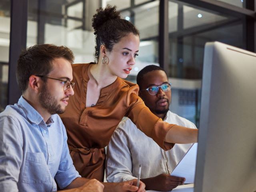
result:
M 239 18 L 169 3 L 170 77 L 200 79 L 204 44 L 220 41 L 244 48 L 243 22 Z

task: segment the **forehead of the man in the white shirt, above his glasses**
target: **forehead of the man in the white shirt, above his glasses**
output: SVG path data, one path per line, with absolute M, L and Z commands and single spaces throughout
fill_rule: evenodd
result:
M 164 71 L 154 70 L 144 74 L 143 82 L 144 82 L 144 85 L 146 86 L 150 84 L 161 85 L 164 82 L 168 82 L 168 78 Z

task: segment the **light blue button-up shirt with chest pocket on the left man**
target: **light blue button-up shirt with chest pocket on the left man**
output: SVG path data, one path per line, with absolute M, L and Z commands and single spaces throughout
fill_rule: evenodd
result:
M 77 177 L 57 114 L 45 123 L 22 96 L 0 113 L 1 192 L 53 192 Z

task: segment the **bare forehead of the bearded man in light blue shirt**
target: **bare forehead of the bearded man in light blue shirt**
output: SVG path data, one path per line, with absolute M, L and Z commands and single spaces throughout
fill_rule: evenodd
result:
M 52 71 L 48 74 L 55 78 L 67 77 L 72 79 L 72 67 L 71 63 L 64 58 L 55 58 L 52 61 Z

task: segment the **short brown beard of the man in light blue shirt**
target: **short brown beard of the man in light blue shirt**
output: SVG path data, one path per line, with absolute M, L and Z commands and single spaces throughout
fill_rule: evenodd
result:
M 53 96 L 51 96 L 50 92 L 48 92 L 46 84 L 43 85 L 39 94 L 39 103 L 51 115 L 62 114 L 65 111 L 65 109 L 62 109 L 60 104 L 58 104 L 58 101 Z

